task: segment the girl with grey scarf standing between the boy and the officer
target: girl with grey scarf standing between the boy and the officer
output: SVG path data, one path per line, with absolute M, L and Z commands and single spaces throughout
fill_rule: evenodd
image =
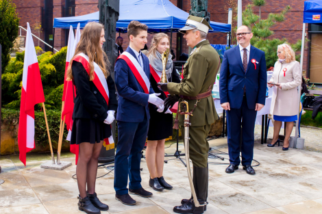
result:
M 162 100 L 168 94 L 164 94 L 158 88 L 157 83 L 160 81 L 163 69 L 161 55 L 166 49 L 169 49 L 169 46 L 169 36 L 163 33 L 155 34 L 148 54 L 151 77 L 153 77 L 150 78 L 151 85 L 154 92 L 161 94 L 159 97 Z M 169 82 L 180 82 L 171 54 L 169 54 L 168 62 L 166 63 L 166 78 Z M 145 152 L 147 168 L 150 172 L 149 186 L 156 191 L 172 189 L 172 186 L 166 183 L 163 177 L 164 142 L 166 138 L 172 136 L 172 112 L 169 109 L 154 109 L 152 107 L 149 108 L 149 111 L 150 124 L 147 134 L 147 150 Z

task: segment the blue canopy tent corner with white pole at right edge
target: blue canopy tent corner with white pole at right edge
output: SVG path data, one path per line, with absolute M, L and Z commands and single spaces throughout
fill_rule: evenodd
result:
M 305 45 L 305 37 L 306 37 L 306 23 L 322 25 L 321 17 L 322 17 L 322 0 L 304 1 L 303 31 L 302 31 L 301 60 L 300 60 L 301 73 L 303 71 L 304 45 Z M 300 99 L 301 99 L 300 98 L 301 85 L 299 85 L 299 88 L 297 91 L 299 92 L 299 101 L 300 101 Z M 294 148 L 296 148 L 298 130 L 299 130 L 299 114 L 297 115 Z

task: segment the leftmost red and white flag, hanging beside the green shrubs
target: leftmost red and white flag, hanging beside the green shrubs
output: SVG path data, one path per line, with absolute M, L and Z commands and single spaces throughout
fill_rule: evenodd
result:
M 26 165 L 26 153 L 35 148 L 35 111 L 34 106 L 44 103 L 45 96 L 42 90 L 42 82 L 38 59 L 27 23 L 27 36 L 25 45 L 25 59 L 23 64 L 23 88 L 21 89 L 20 117 L 18 127 L 19 159 Z

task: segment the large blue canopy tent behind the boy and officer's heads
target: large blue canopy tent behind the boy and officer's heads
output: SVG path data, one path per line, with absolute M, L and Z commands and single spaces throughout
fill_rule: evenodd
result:
M 149 27 L 150 33 L 176 32 L 184 27 L 188 13 L 177 8 L 169 0 L 121 0 L 120 16 L 116 23 L 116 31 L 127 32 L 127 25 L 132 20 L 140 21 Z M 69 29 L 72 25 L 77 28 L 80 23 L 81 29 L 88 22 L 99 22 L 99 12 L 84 16 L 73 16 L 53 19 L 53 28 Z M 231 26 L 224 23 L 210 22 L 212 31 L 229 34 Z

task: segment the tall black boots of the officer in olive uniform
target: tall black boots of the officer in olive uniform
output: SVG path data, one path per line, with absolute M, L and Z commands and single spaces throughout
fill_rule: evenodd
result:
M 208 166 L 207 168 L 198 168 L 193 166 L 193 185 L 195 187 L 197 199 L 201 206 L 195 206 L 193 198 L 182 200 L 181 206 L 175 206 L 175 213 L 193 213 L 200 214 L 207 209 L 208 197 Z

